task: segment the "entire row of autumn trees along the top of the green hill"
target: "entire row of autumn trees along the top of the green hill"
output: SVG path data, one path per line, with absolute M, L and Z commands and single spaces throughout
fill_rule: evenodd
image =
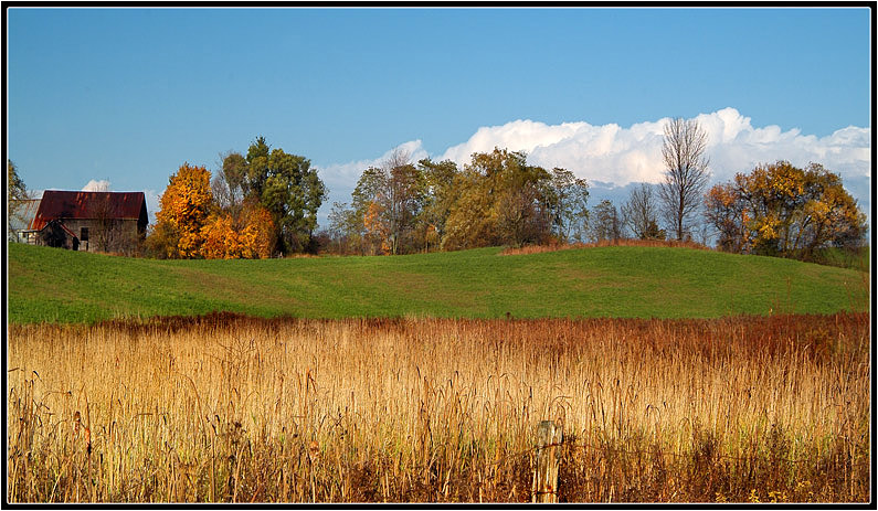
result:
M 665 174 L 617 207 L 589 207 L 589 183 L 547 170 L 522 151 L 495 148 L 451 160 L 411 161 L 403 150 L 360 174 L 350 202 L 317 227 L 327 189 L 305 157 L 257 137 L 219 169 L 184 163 L 170 175 L 144 254 L 159 258 L 265 258 L 295 253 L 395 255 L 483 246 L 676 239 L 741 254 L 812 259 L 824 247 L 863 245 L 868 225 L 842 178 L 819 163 L 780 160 L 707 188 L 708 139 L 695 120 L 664 130 Z M 8 161 L 10 203 L 27 196 Z M 10 210 L 12 211 L 12 210 Z

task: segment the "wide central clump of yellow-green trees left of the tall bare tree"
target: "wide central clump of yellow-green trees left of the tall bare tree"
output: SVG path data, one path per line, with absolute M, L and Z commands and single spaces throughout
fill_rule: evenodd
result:
M 582 228 L 588 196 L 585 180 L 529 164 L 522 152 L 474 153 L 458 169 L 396 150 L 362 172 L 350 203 L 332 204 L 328 248 L 411 254 L 567 239 Z

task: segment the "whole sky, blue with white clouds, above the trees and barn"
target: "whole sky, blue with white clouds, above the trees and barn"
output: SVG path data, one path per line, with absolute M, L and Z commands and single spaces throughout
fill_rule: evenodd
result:
M 184 161 L 214 169 L 258 135 L 320 169 L 321 217 L 358 167 L 406 143 L 505 145 L 610 190 L 656 179 L 662 119 L 702 116 L 726 134 L 717 180 L 753 158 L 822 161 L 868 201 L 867 9 L 7 14 L 8 157 L 33 190 L 104 180 L 155 198 Z

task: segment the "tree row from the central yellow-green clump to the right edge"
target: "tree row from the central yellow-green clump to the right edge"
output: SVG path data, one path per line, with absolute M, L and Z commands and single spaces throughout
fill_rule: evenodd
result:
M 863 244 L 866 216 L 838 174 L 781 160 L 707 189 L 707 146 L 696 120 L 671 119 L 662 147 L 664 179 L 635 187 L 620 207 L 610 200 L 588 207 L 584 179 L 529 164 L 523 152 L 477 152 L 458 169 L 449 160 L 414 163 L 395 151 L 362 172 L 350 203 L 334 203 L 319 244 L 336 254 L 373 255 L 713 238 L 726 252 L 802 259 L 818 248 Z

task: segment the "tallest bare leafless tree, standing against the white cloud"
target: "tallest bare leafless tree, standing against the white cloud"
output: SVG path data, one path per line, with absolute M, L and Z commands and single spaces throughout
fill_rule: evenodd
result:
M 658 191 L 665 220 L 678 241 L 689 234 L 710 178 L 706 149 L 707 134 L 695 119 L 678 117 L 665 126 L 662 157 L 666 172 Z

